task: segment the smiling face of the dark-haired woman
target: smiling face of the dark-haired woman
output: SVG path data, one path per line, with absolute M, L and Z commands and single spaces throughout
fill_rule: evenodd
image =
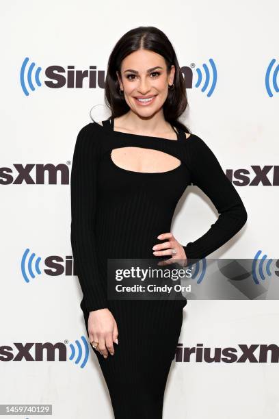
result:
M 122 60 L 121 78 L 117 76 L 131 110 L 140 116 L 151 116 L 163 107 L 174 73 L 174 65 L 170 74 L 167 73 L 162 55 L 139 49 Z

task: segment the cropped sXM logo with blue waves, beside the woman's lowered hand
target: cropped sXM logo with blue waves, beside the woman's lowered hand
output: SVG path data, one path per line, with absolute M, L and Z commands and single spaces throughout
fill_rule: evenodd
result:
M 28 342 L 23 344 L 21 342 L 14 342 L 17 353 L 14 354 L 12 346 L 0 346 L 0 361 L 72 361 L 80 368 L 84 368 L 88 361 L 89 344 L 85 336 L 81 336 L 80 340 L 75 340 L 74 343 L 57 342 Z M 67 346 L 69 348 L 67 348 Z M 34 355 L 31 355 L 31 348 L 34 348 Z M 57 359 L 55 359 L 55 353 Z M 69 353 L 69 354 L 68 354 Z

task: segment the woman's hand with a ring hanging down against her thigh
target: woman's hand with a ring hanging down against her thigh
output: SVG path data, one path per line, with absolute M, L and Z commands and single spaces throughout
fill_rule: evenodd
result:
M 88 317 L 88 334 L 90 342 L 98 342 L 96 347 L 105 358 L 108 352 L 114 355 L 114 342 L 118 344 L 118 327 L 109 309 L 90 312 Z

